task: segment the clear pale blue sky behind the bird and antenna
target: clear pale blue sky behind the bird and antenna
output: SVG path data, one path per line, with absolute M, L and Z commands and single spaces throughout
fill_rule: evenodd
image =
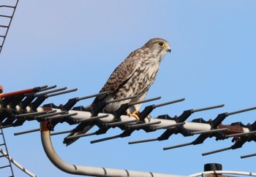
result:
M 161 37 L 172 52 L 162 60 L 157 80 L 147 98 L 162 96 L 165 106 L 152 117 L 180 115 L 187 109 L 225 104 L 221 109 L 192 114 L 188 121 L 256 106 L 256 1 L 20 1 L 0 55 L 0 84 L 5 92 L 45 84 L 78 88 L 75 93 L 49 98 L 44 103 L 66 103 L 69 98 L 98 93 L 114 68 L 148 39 Z M 80 101 L 77 106 L 89 105 Z M 145 104 L 144 106 L 148 105 Z M 142 106 L 143 109 L 143 106 Z M 227 117 L 231 122 L 255 122 L 256 111 Z M 39 133 L 13 133 L 39 127 L 26 122 L 4 130 L 10 155 L 37 176 L 71 176 L 55 168 L 42 149 Z M 70 130 L 67 124 L 57 130 Z M 96 129 L 94 129 L 96 130 Z M 77 165 L 189 175 L 203 165 L 218 162 L 224 170 L 255 172 L 255 142 L 242 149 L 201 156 L 203 152 L 233 145 L 231 139 L 163 151 L 165 146 L 193 141 L 197 136 L 173 135 L 167 141 L 128 145 L 128 141 L 156 138 L 154 133 L 136 131 L 129 138 L 91 144 L 91 140 L 121 133 L 81 138 L 64 146 L 65 135 L 53 137 L 60 157 Z M 26 176 L 15 168 L 15 176 Z

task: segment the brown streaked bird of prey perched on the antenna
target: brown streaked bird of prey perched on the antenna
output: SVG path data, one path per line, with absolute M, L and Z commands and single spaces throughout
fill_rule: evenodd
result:
M 101 101 L 111 101 L 118 98 L 127 98 L 137 95 L 136 98 L 110 103 L 105 106 L 105 111 L 116 111 L 124 103 L 134 103 L 143 101 L 146 98 L 148 89 L 154 83 L 159 65 L 167 52 L 170 52 L 170 45 L 165 39 L 150 39 L 143 47 L 133 51 L 129 56 L 113 71 L 108 81 L 99 91 L 108 91 L 108 95 L 99 95 L 94 99 L 88 109 L 94 108 Z M 138 119 L 138 110 L 141 104 L 135 104 L 127 109 L 127 115 Z M 80 123 L 72 130 L 67 137 L 86 133 L 93 127 L 92 124 Z M 78 138 L 64 138 L 67 146 Z

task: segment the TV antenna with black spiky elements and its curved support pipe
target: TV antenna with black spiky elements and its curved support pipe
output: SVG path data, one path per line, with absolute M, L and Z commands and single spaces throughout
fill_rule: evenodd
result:
M 216 140 L 226 140 L 227 138 L 233 138 L 234 145 L 225 149 L 219 149 L 214 152 L 203 153 L 202 155 L 214 154 L 217 152 L 226 151 L 229 149 L 241 148 L 244 143 L 249 141 L 256 141 L 256 122 L 252 124 L 243 125 L 241 122 L 234 122 L 231 125 L 223 125 L 222 122 L 234 114 L 241 114 L 245 111 L 253 111 L 256 106 L 241 109 L 238 111 L 230 111 L 217 114 L 214 119 L 205 120 L 187 119 L 199 111 L 207 111 L 209 109 L 218 109 L 223 107 L 223 104 L 216 106 L 207 106 L 199 109 L 184 110 L 181 114 L 174 117 L 170 117 L 168 114 L 159 115 L 152 118 L 150 121 L 147 118 L 154 109 L 160 106 L 167 106 L 173 103 L 184 101 L 184 98 L 180 98 L 174 101 L 168 101 L 166 103 L 151 104 L 146 106 L 139 114 L 139 120 L 135 117 L 128 117 L 125 115 L 125 111 L 131 103 L 124 103 L 117 111 L 105 112 L 103 111 L 105 106 L 113 101 L 102 101 L 94 109 L 89 110 L 83 106 L 76 106 L 79 101 L 87 98 L 95 97 L 99 94 L 86 95 L 83 97 L 70 98 L 67 103 L 56 106 L 54 103 L 48 103 L 43 106 L 42 103 L 47 98 L 55 97 L 56 95 L 63 95 L 66 93 L 75 92 L 78 89 L 67 90 L 67 87 L 56 88 L 56 85 L 48 87 L 47 85 L 42 87 L 33 87 L 26 90 L 19 90 L 13 93 L 4 93 L 0 95 L 0 122 L 2 128 L 24 126 L 28 121 L 36 121 L 40 123 L 40 127 L 33 130 L 25 130 L 23 132 L 15 133 L 15 135 L 23 135 L 26 133 L 32 133 L 40 131 L 42 138 L 42 146 L 49 160 L 56 165 L 57 168 L 67 173 L 84 176 L 173 176 L 162 173 L 140 172 L 130 170 L 118 170 L 112 168 L 94 168 L 81 165 L 71 165 L 61 160 L 56 154 L 51 143 L 52 135 L 60 135 L 64 133 L 70 133 L 72 131 L 80 130 L 80 128 L 86 127 L 88 123 L 98 127 L 97 131 L 86 133 L 84 135 L 69 136 L 70 139 L 78 139 L 92 135 L 104 135 L 108 133 L 113 127 L 118 127 L 122 130 L 121 134 L 107 136 L 105 138 L 97 138 L 91 143 L 100 143 L 102 141 L 111 141 L 115 138 L 125 138 L 135 130 L 144 130 L 146 133 L 165 130 L 162 135 L 157 138 L 151 138 L 146 140 L 130 141 L 129 144 L 134 143 L 146 143 L 148 141 L 167 141 L 171 135 L 180 133 L 184 136 L 199 135 L 194 141 L 184 143 L 180 145 L 167 146 L 164 150 L 179 148 L 182 146 L 198 145 L 202 144 L 207 138 L 215 137 Z M 158 100 L 160 97 L 151 98 L 138 103 L 145 103 Z M 130 99 L 130 98 L 122 98 Z M 132 103 L 137 104 L 137 103 Z M 77 125 L 73 130 L 64 130 L 61 132 L 53 132 L 54 128 L 60 123 L 67 122 L 69 125 Z M 79 128 L 78 128 L 79 127 Z M 241 156 L 241 158 L 252 157 L 253 154 L 247 156 Z M 202 173 L 203 174 L 203 173 Z M 255 173 L 249 173 L 254 176 Z M 256 176 L 256 175 L 255 175 Z

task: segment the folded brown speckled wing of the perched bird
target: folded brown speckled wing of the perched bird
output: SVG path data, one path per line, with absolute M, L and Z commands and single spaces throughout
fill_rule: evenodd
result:
M 114 93 L 121 84 L 126 82 L 136 69 L 140 66 L 141 50 L 132 52 L 110 75 L 108 81 L 102 87 L 99 93 L 108 91 Z M 97 101 L 101 101 L 106 95 L 101 95 Z M 95 101 L 94 101 L 95 102 Z

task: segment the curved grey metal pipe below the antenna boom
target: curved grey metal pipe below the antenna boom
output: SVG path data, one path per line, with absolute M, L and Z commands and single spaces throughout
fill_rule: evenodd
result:
M 181 177 L 170 174 L 162 173 L 151 173 L 151 172 L 140 172 L 134 170 L 119 170 L 112 168 L 97 168 L 90 166 L 72 165 L 61 160 L 61 158 L 56 154 L 53 149 L 53 143 L 50 139 L 50 131 L 47 128 L 47 122 L 41 122 L 41 138 L 42 146 L 45 150 L 46 155 L 50 162 L 53 163 L 60 170 L 83 176 L 109 176 L 109 177 Z

